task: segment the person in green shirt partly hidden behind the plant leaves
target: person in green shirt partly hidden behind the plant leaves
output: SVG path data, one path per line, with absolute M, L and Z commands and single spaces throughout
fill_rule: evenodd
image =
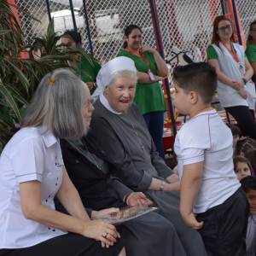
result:
M 81 46 L 82 38 L 79 32 L 66 31 L 65 33 L 68 34 L 73 40 L 71 40 L 70 38 L 61 38 L 62 44 L 69 44 L 70 46 L 72 45 Z M 66 47 L 63 46 L 62 49 L 66 49 Z M 77 60 L 79 60 L 80 58 L 79 55 L 73 55 L 73 57 L 76 58 Z M 90 95 L 92 95 L 97 88 L 96 76 L 99 73 L 100 69 L 102 68 L 98 62 L 96 61 L 92 61 L 92 62 L 94 64 L 94 67 L 92 67 L 90 62 L 82 56 L 80 69 L 84 70 L 84 72 L 86 73 L 85 74 L 77 70 L 76 65 L 73 61 L 69 61 L 70 66 L 73 67 L 73 70 L 80 76 L 80 79 L 87 84 L 90 90 Z

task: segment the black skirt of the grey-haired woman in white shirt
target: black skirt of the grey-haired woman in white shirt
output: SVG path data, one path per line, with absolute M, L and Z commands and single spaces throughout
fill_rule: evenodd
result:
M 118 239 L 113 246 L 103 248 L 101 241 L 68 233 L 32 247 L 0 249 L 0 256 L 118 256 L 124 246 L 125 240 Z

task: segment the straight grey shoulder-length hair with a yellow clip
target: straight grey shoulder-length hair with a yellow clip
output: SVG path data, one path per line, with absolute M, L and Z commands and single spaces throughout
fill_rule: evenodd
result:
M 55 79 L 53 85 L 49 79 Z M 82 82 L 70 68 L 59 68 L 41 80 L 31 104 L 26 108 L 20 127 L 42 125 L 55 137 L 77 139 L 83 137 L 86 127 L 82 109 L 88 103 Z

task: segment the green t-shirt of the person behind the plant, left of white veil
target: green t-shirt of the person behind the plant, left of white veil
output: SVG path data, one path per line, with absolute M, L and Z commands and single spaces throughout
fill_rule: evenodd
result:
M 92 61 L 94 64 L 94 67 L 92 67 L 90 62 L 84 56 L 82 56 L 81 61 L 82 61 L 82 63 L 80 64 L 80 69 L 84 70 L 84 72 L 86 74 L 88 74 L 88 76 L 87 76 L 85 73 L 81 72 L 82 81 L 84 83 L 96 82 L 96 76 L 99 73 L 100 69 L 102 68 L 101 65 L 96 61 Z M 76 68 L 73 68 L 73 70 L 76 71 Z M 94 91 L 95 91 L 95 89 L 90 90 L 90 95 L 92 95 L 94 93 Z

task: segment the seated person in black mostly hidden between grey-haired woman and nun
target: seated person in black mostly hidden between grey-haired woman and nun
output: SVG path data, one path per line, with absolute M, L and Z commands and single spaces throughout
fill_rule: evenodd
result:
M 87 96 L 84 118 L 89 126 L 94 108 L 90 103 L 90 94 Z M 142 192 L 132 193 L 119 178 L 112 176 L 118 172 L 118 168 L 104 154 L 95 137 L 61 139 L 61 151 L 68 176 L 78 189 L 84 207 L 89 208 L 86 210 L 92 218 L 117 212 L 118 208 L 127 205 L 147 207 L 152 204 Z M 102 210 L 104 208 L 109 209 Z M 59 209 L 66 212 L 61 205 Z M 149 214 L 145 216 L 146 219 L 131 219 L 117 227 L 120 236 L 125 239 L 126 254 L 185 256 L 174 226 L 159 214 Z

